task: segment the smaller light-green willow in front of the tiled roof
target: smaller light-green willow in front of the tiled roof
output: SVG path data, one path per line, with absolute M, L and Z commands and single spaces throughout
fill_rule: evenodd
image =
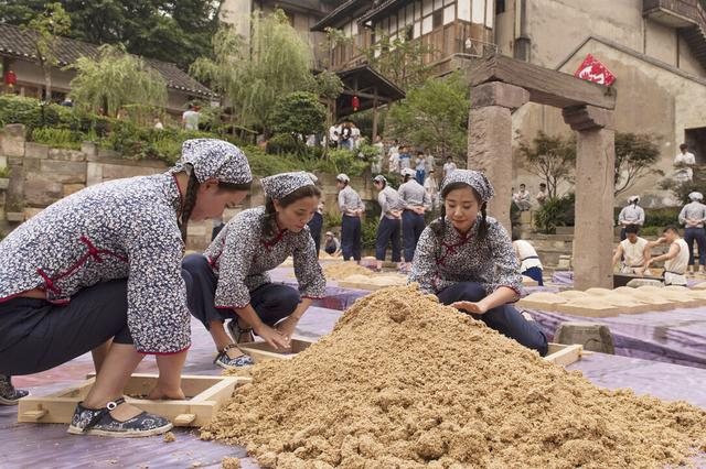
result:
M 167 102 L 164 78 L 121 47 L 101 45 L 95 58 L 81 57 L 71 68 L 76 70 L 71 97 L 84 109 L 103 109 L 107 116 L 117 116 L 124 106 Z

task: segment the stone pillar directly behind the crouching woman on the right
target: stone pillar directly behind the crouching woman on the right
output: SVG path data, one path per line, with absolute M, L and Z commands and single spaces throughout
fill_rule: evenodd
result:
M 500 81 L 471 90 L 468 167 L 485 173 L 495 189 L 488 215 L 510 232 L 512 200 L 512 112 L 530 100 L 524 88 Z

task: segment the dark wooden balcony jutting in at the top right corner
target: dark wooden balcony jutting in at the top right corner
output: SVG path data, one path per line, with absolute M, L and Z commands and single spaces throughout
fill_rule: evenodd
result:
M 643 0 L 642 14 L 659 23 L 676 28 L 689 48 L 706 68 L 706 1 Z

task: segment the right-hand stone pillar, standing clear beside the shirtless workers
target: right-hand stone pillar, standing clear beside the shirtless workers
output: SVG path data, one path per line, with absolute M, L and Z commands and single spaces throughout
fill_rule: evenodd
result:
M 592 106 L 565 108 L 564 120 L 578 131 L 574 287 L 613 286 L 613 112 Z

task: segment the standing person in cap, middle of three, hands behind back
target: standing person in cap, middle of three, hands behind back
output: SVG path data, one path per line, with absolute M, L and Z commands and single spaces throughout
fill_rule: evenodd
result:
M 387 184 L 387 178 L 378 174 L 373 178 L 373 185 L 378 190 L 377 203 L 379 204 L 381 215 L 377 225 L 377 234 L 375 236 L 375 261 L 376 270 L 383 270 L 383 262 L 387 251 L 387 244 L 393 244 L 393 262 L 399 262 L 399 231 L 403 204 L 399 199 L 397 190 Z

